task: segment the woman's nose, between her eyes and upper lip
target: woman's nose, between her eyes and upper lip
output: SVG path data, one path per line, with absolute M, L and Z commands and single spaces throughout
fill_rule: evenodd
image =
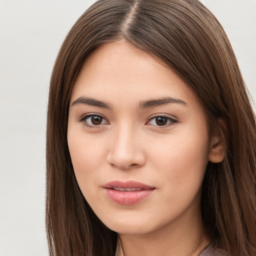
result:
M 113 132 L 106 160 L 119 169 L 143 166 L 146 157 L 139 132 L 128 127 L 119 128 Z

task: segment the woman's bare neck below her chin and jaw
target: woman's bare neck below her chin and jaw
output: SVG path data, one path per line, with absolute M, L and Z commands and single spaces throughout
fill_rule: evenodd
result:
M 197 256 L 209 241 L 199 212 L 192 219 L 189 213 L 149 233 L 118 234 L 124 256 Z

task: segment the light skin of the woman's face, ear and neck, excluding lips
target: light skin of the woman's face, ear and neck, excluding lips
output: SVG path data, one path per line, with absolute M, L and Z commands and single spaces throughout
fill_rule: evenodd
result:
M 166 97 L 178 102 L 141 107 Z M 87 114 L 103 118 L 93 125 Z M 155 116 L 167 123 L 158 125 Z M 198 255 L 207 245 L 201 183 L 208 160 L 223 154 L 195 93 L 174 71 L 125 40 L 100 46 L 75 80 L 67 140 L 78 185 L 99 219 L 118 232 L 125 256 Z M 112 180 L 154 190 L 138 203 L 118 204 L 103 189 Z

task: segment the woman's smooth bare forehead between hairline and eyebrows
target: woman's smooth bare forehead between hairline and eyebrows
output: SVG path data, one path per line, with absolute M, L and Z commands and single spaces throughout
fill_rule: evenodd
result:
M 194 92 L 170 68 L 133 44 L 120 40 L 94 50 L 84 61 L 72 90 L 77 97 L 125 102 L 149 98 L 180 98 L 195 102 Z

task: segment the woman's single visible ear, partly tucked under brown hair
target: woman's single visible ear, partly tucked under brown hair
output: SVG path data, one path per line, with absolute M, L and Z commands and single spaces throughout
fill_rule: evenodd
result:
M 210 162 L 221 162 L 225 156 L 225 142 L 224 142 L 224 133 L 223 129 L 225 129 L 225 123 L 223 119 L 219 119 L 219 132 L 215 132 L 210 137 L 210 148 L 209 148 L 209 156 L 208 160 Z M 222 128 L 223 129 L 222 129 Z

